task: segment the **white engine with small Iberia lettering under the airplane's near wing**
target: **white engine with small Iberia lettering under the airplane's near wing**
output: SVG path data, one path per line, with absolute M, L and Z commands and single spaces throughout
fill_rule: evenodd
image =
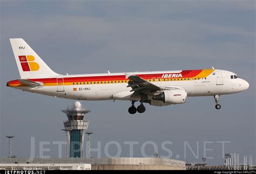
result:
M 167 90 L 159 95 L 153 96 L 153 100 L 163 101 L 164 103 L 170 104 L 185 103 L 186 99 L 187 93 L 184 89 Z

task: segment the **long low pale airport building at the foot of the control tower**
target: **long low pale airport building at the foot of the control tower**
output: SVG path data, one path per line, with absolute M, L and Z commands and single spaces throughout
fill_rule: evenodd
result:
M 186 163 L 169 158 L 0 158 L 3 166 L 42 165 L 71 166 L 77 164 L 91 165 L 92 170 L 186 170 Z M 65 165 L 64 165 L 65 164 Z M 0 165 L 0 166 L 1 166 Z M 83 166 L 85 168 L 85 166 Z M 89 167 L 88 167 L 89 168 Z M 75 167 L 73 168 L 75 169 Z M 80 167 L 79 167 L 80 169 Z

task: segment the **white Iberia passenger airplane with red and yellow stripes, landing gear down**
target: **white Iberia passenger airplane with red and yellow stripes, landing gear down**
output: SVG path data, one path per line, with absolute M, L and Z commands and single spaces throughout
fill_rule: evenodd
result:
M 221 69 L 123 72 L 61 75 L 50 69 L 21 38 L 10 39 L 20 79 L 6 86 L 22 91 L 74 100 L 129 100 L 130 114 L 144 113 L 143 103 L 169 106 L 185 103 L 191 96 L 219 96 L 245 91 L 249 83 L 233 72 Z M 134 103 L 139 101 L 136 108 Z

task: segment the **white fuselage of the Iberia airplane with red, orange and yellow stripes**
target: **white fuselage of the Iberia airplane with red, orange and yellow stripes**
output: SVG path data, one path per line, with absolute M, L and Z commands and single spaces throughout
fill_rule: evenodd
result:
M 231 79 L 231 75 L 235 74 L 229 71 L 212 69 L 212 72 L 210 74 L 208 74 L 207 76 L 202 76 L 200 78 L 194 77 L 197 74 L 186 78 L 184 78 L 184 75 L 177 75 L 177 78 L 175 75 L 172 75 L 179 74 L 180 72 L 181 71 L 132 72 L 129 74 L 136 74 L 138 76 L 144 75 L 143 77 L 153 74 L 153 78 L 147 78 L 147 81 L 160 87 L 176 87 L 180 89 L 185 89 L 187 96 L 214 96 L 233 94 L 245 91 L 249 86 L 248 82 L 243 79 Z M 116 79 L 111 79 L 111 76 Z M 100 77 L 101 79 L 90 80 L 90 82 L 88 82 L 88 80 L 79 80 L 80 78 L 97 79 L 97 77 Z M 106 78 L 104 79 L 104 77 Z M 48 79 L 53 80 L 53 82 L 48 82 Z M 56 82 L 54 82 L 55 79 Z M 129 79 L 124 78 L 124 73 L 60 75 L 49 78 L 29 80 L 43 82 L 44 85 L 39 87 L 30 87 L 16 84 L 15 86 L 11 85 L 10 81 L 8 86 L 18 88 L 27 92 L 50 95 L 65 99 L 140 100 L 140 96 L 131 96 L 131 94 L 133 93 L 130 92 L 132 88 L 127 87 L 127 82 L 129 81 Z M 60 80 L 59 83 L 58 80 Z

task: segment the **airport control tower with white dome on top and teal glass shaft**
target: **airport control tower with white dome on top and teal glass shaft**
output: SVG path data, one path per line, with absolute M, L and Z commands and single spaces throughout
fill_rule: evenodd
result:
M 89 110 L 82 109 L 79 101 L 76 101 L 72 107 L 62 110 L 68 116 L 68 121 L 64 121 L 63 129 L 66 133 L 66 152 L 69 151 L 70 158 L 83 157 L 84 133 L 87 130 L 89 121 L 84 121 L 86 113 Z

